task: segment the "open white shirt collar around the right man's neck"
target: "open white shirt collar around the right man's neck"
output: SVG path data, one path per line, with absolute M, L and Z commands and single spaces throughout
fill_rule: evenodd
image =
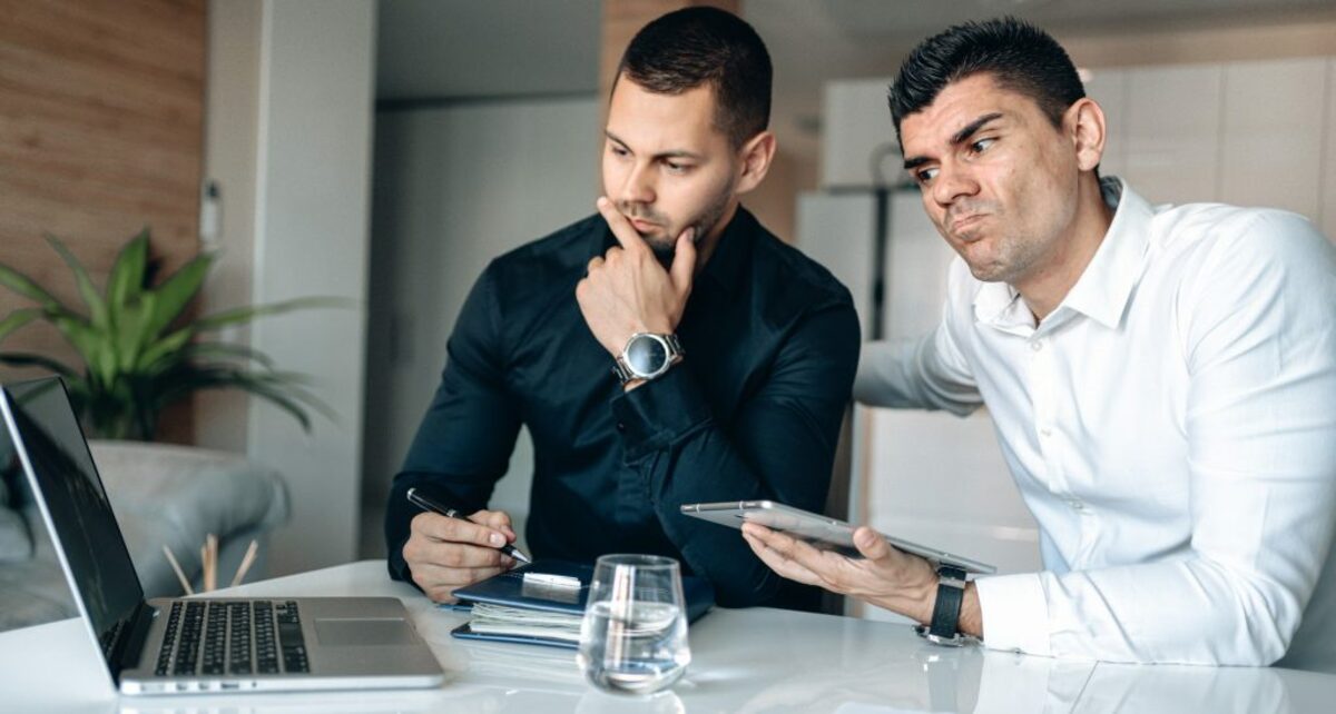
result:
M 1141 280 L 1154 210 L 1117 176 L 1101 179 L 1100 191 L 1114 210 L 1113 222 L 1090 264 L 1053 312 L 1069 308 L 1116 328 Z M 1007 283 L 982 283 L 974 295 L 974 316 L 1006 331 L 1034 327 L 1030 308 Z

